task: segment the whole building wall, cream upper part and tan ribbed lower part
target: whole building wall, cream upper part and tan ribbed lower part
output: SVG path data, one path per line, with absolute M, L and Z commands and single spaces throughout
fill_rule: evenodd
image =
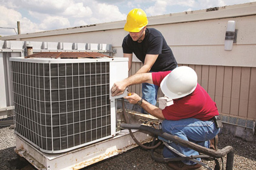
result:
M 250 128 L 256 120 L 256 2 L 184 13 L 149 17 L 149 25 L 160 30 L 179 65 L 188 65 L 217 103 L 226 123 Z M 237 42 L 224 50 L 227 21 L 235 21 Z M 2 40 L 81 42 L 111 44 L 115 57 L 123 57 L 121 44 L 127 32 L 125 21 L 79 28 L 2 37 Z M 135 74 L 142 66 L 133 56 Z M 130 87 L 141 95 L 141 85 Z M 159 97 L 163 93 L 159 93 Z

